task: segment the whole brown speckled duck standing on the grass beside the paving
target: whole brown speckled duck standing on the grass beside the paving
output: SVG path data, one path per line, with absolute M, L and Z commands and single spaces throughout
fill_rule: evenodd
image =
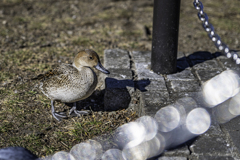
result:
M 56 113 L 54 102 L 73 103 L 69 115 L 73 112 L 80 116 L 88 114 L 87 111 L 78 111 L 76 102 L 88 98 L 95 90 L 98 78 L 96 70 L 105 74 L 110 72 L 105 69 L 98 54 L 91 49 L 78 52 L 72 64 L 61 64 L 45 74 L 40 74 L 32 80 L 39 80 L 39 88 L 51 100 L 51 112 L 57 121 L 66 118 L 65 113 Z

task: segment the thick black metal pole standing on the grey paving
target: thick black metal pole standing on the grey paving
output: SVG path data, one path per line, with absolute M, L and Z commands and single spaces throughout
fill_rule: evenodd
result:
M 181 0 L 154 0 L 151 68 L 157 74 L 177 71 Z

